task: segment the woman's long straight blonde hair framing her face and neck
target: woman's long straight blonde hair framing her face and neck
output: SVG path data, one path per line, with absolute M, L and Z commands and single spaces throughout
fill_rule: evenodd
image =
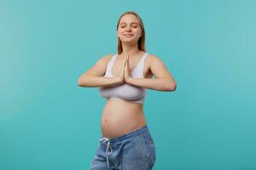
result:
M 116 30 L 118 31 L 118 28 L 119 28 L 119 22 L 121 20 L 121 18 L 125 15 L 125 14 L 133 14 L 137 17 L 137 20 L 139 21 L 139 25 L 141 27 L 141 30 L 142 30 L 142 37 L 140 37 L 137 41 L 137 48 L 139 50 L 142 50 L 144 52 L 146 52 L 146 48 L 145 48 L 145 28 L 144 28 L 144 25 L 143 25 L 143 20 L 141 19 L 141 17 L 136 13 L 136 12 L 133 12 L 133 11 L 127 11 L 125 12 L 124 14 L 121 14 L 121 16 L 119 17 L 119 20 L 118 20 L 118 24 L 116 26 Z M 122 47 L 122 42 L 121 40 L 119 39 L 118 37 L 118 54 L 121 54 L 123 52 L 123 47 Z

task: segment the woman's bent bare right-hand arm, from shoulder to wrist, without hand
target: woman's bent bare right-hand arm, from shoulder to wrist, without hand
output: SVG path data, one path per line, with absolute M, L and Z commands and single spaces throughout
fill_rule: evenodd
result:
M 175 91 L 177 84 L 166 69 L 164 62 L 158 57 L 148 54 L 150 70 L 156 78 L 129 78 L 128 83 L 142 88 L 159 91 Z

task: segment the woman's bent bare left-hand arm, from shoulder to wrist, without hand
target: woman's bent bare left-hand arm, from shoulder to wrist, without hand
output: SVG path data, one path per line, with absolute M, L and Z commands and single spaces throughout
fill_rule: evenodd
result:
M 83 75 L 79 77 L 77 84 L 80 87 L 113 87 L 123 82 L 120 81 L 119 77 L 103 77 L 106 69 L 108 60 L 112 57 L 111 54 L 106 55 L 99 59 L 90 70 L 84 72 Z

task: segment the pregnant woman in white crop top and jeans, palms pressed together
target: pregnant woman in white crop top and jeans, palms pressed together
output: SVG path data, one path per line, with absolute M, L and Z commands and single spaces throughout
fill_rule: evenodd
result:
M 98 59 L 78 80 L 80 87 L 99 88 L 107 99 L 90 170 L 148 170 L 154 167 L 156 149 L 143 111 L 146 88 L 175 91 L 177 84 L 164 62 L 146 52 L 137 13 L 119 17 L 117 37 L 118 53 Z

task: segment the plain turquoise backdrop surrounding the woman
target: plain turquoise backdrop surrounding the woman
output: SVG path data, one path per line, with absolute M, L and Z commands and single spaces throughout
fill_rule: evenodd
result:
M 256 1 L 0 3 L 0 169 L 89 169 L 105 99 L 79 76 L 134 10 L 175 92 L 148 90 L 156 170 L 256 169 Z

